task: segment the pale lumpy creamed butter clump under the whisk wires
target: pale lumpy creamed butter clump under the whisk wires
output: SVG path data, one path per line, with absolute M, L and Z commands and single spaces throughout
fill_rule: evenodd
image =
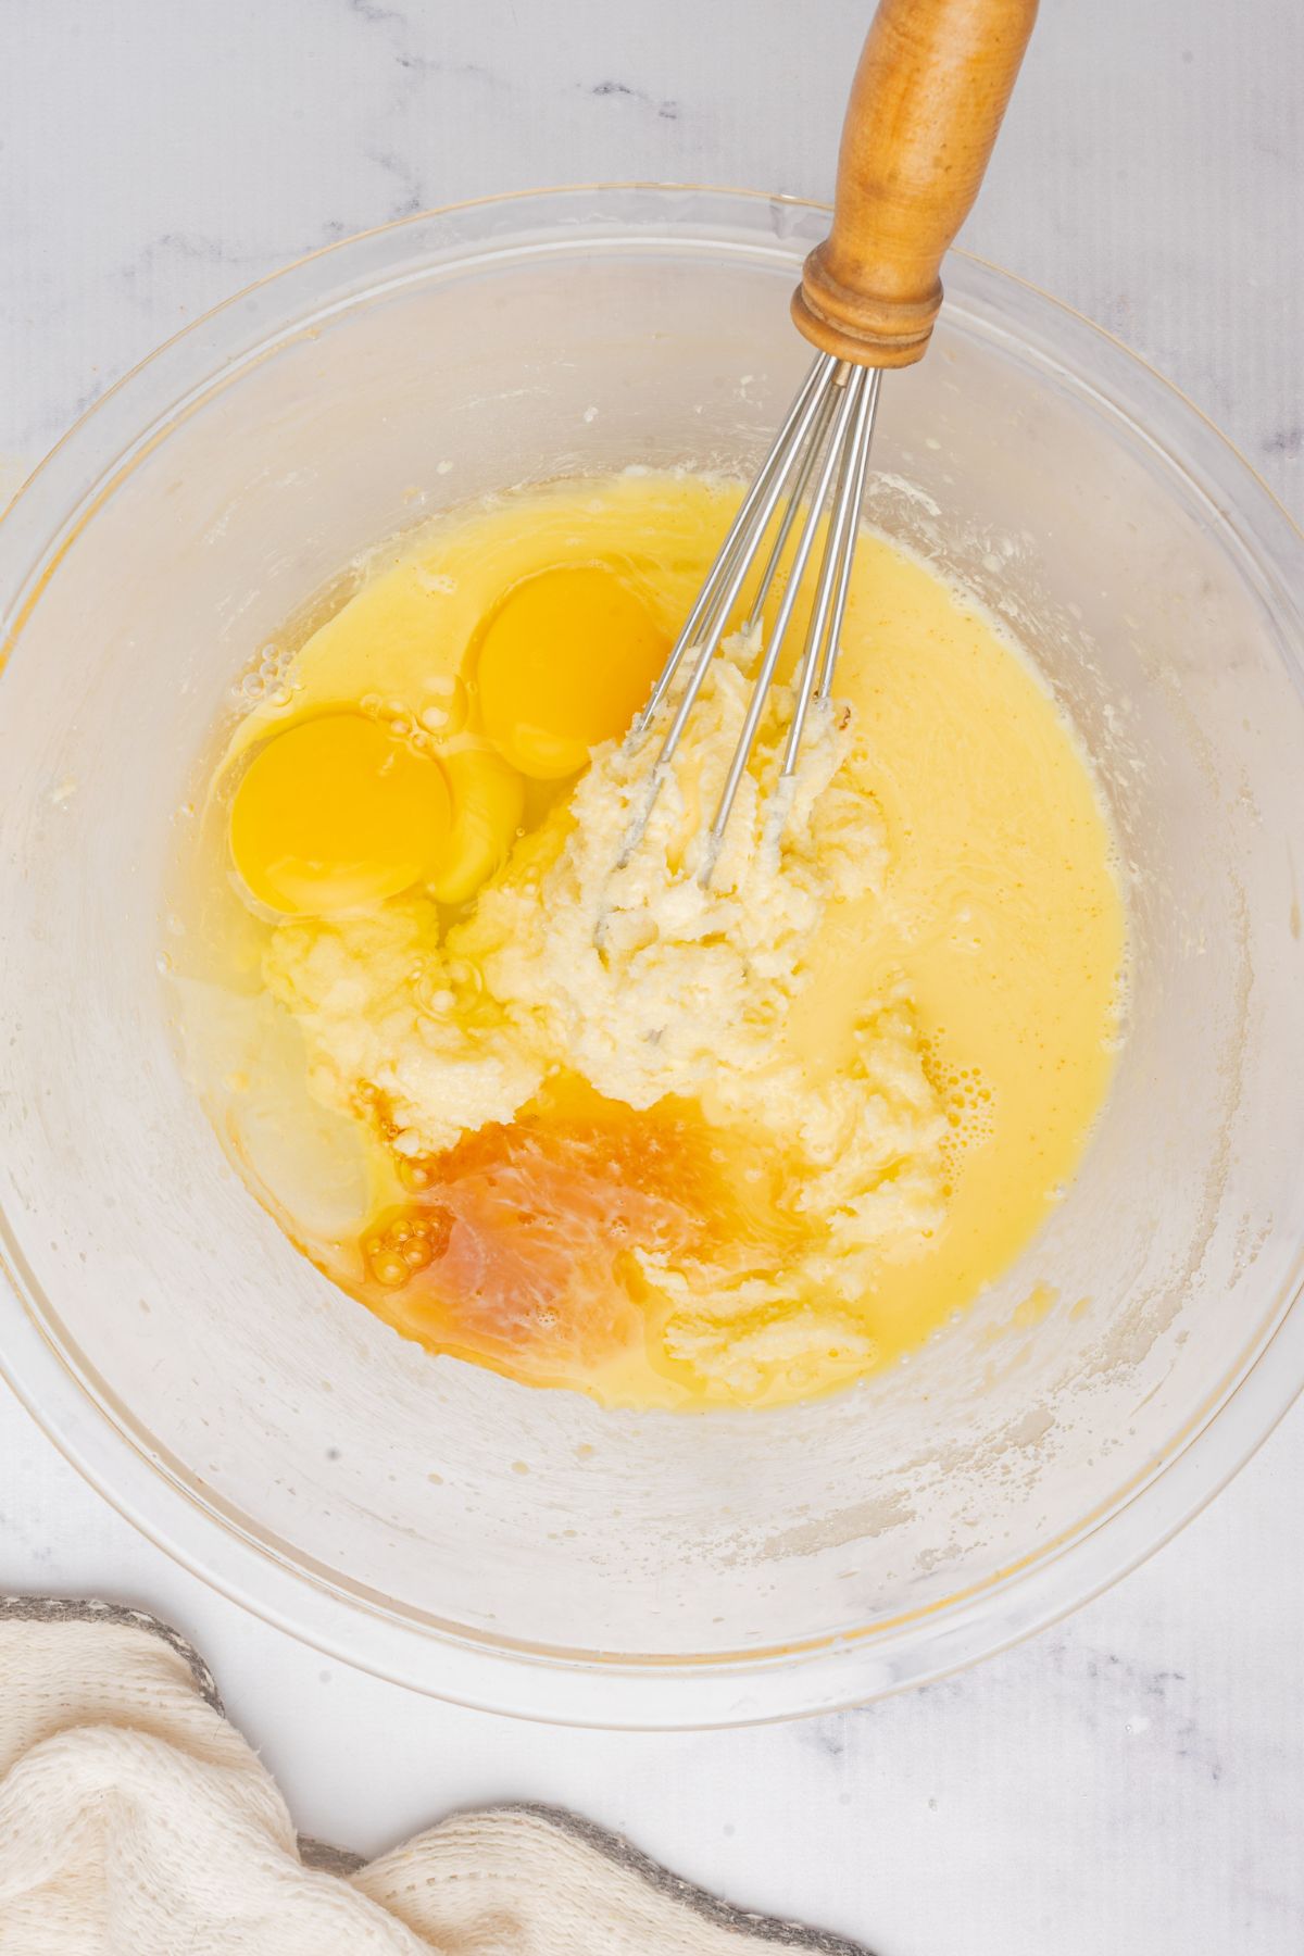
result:
M 811 716 L 780 786 L 788 702 L 772 702 L 700 876 L 747 706 L 745 653 L 735 642 L 716 661 L 651 808 L 657 737 L 598 749 L 444 941 L 434 906 L 407 898 L 287 921 L 266 953 L 315 1093 L 346 1111 L 379 1099 L 399 1156 L 508 1123 L 559 1074 L 633 1109 L 696 1101 L 712 1127 L 761 1140 L 798 1224 L 782 1267 L 631 1246 L 671 1307 L 669 1357 L 729 1397 L 776 1369 L 790 1385 L 804 1367 L 811 1385 L 864 1369 L 856 1303 L 884 1258 L 940 1224 L 946 1144 L 903 980 L 862 1001 L 841 1066 L 811 1068 L 786 1041 L 831 908 L 872 898 L 888 870 L 847 708 Z

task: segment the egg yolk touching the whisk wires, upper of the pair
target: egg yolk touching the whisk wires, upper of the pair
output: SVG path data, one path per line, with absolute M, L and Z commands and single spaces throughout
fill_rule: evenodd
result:
M 647 604 L 604 563 L 522 577 L 479 640 L 485 734 L 532 780 L 575 775 L 626 732 L 669 649 Z

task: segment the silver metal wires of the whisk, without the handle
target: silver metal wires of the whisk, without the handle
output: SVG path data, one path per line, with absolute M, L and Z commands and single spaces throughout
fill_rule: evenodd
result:
M 847 608 L 850 585 L 850 565 L 856 550 L 856 530 L 860 526 L 860 503 L 864 499 L 864 477 L 870 462 L 870 440 L 874 436 L 874 415 L 878 409 L 878 387 L 882 374 L 878 368 L 852 366 L 835 354 L 817 354 L 802 383 L 788 417 L 774 438 L 774 446 L 761 464 L 761 471 L 739 505 L 739 512 L 729 526 L 729 534 L 719 546 L 719 556 L 712 563 L 706 583 L 684 620 L 684 628 L 674 640 L 671 655 L 661 669 L 661 677 L 651 690 L 647 706 L 633 722 L 630 739 L 647 735 L 651 722 L 667 702 L 674 677 L 690 659 L 688 679 L 674 694 L 674 712 L 661 743 L 661 753 L 651 771 L 647 806 L 643 822 L 657 796 L 661 782 L 674 759 L 674 751 L 684 735 L 688 716 L 702 692 L 712 659 L 719 649 L 725 624 L 737 604 L 761 548 L 770 532 L 774 516 L 782 509 L 774 542 L 770 544 L 761 581 L 749 599 L 745 632 L 761 622 L 761 612 L 774 585 L 780 563 L 786 556 L 792 530 L 800 522 L 798 542 L 788 569 L 788 581 L 774 616 L 774 624 L 761 647 L 761 665 L 753 685 L 743 730 L 729 761 L 719 806 L 710 827 L 702 857 L 704 878 L 719 851 L 719 843 L 729 822 L 739 782 L 747 769 L 749 755 L 757 739 L 757 728 L 764 712 L 764 702 L 778 669 L 778 661 L 798 606 L 802 581 L 815 552 L 819 528 L 827 509 L 827 534 L 819 571 L 811 595 L 809 624 L 805 644 L 794 671 L 792 722 L 780 765 L 782 780 L 792 777 L 802 749 L 802 730 L 811 708 L 811 700 L 827 698 L 837 665 L 839 632 Z M 639 829 L 628 837 L 622 863 L 637 845 Z

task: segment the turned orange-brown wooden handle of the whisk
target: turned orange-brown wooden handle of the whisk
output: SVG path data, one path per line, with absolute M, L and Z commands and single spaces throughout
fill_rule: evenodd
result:
M 833 231 L 792 317 L 860 366 L 919 360 L 938 268 L 968 217 L 1036 20 L 1036 0 L 882 0 L 847 106 Z

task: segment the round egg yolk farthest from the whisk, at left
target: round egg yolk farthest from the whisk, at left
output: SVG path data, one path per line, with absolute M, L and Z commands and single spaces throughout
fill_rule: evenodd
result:
M 399 896 L 442 857 L 444 769 L 364 714 L 301 720 L 250 761 L 231 855 L 260 904 L 325 917 Z

